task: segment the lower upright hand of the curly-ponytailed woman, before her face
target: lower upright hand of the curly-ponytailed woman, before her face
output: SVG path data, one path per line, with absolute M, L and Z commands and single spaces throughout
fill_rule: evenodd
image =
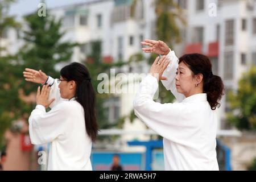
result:
M 169 63 L 170 59 L 167 56 L 162 56 L 161 58 L 158 56 L 151 65 L 149 73 L 158 80 L 168 80 L 166 77 L 162 77 L 162 75 Z

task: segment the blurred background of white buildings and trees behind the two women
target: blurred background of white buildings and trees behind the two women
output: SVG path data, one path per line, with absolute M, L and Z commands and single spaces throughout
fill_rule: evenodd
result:
M 256 1 L 0 0 L 0 36 L 0 169 L 47 169 L 49 144 L 34 146 L 28 134 L 38 85 L 24 81 L 24 68 L 59 78 L 64 65 L 77 61 L 89 68 L 96 92 L 100 73 L 109 86 L 121 81 L 127 88 L 134 80 L 115 76 L 133 73 L 139 83 L 157 56 L 141 51 L 144 39 L 163 40 L 177 57 L 209 56 L 225 84 L 215 111 L 220 169 L 256 169 Z M 162 137 L 135 117 L 135 93 L 97 92 L 94 170 L 111 170 L 113 163 L 164 169 Z M 159 84 L 157 101 L 175 100 Z

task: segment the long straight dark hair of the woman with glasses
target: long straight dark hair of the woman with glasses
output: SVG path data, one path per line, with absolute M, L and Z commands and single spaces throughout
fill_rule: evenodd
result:
M 95 102 L 96 96 L 90 82 L 90 74 L 85 65 L 71 63 L 61 69 L 60 75 L 68 81 L 76 82 L 76 100 L 84 108 L 86 132 L 92 141 L 96 140 L 98 123 L 96 119 Z

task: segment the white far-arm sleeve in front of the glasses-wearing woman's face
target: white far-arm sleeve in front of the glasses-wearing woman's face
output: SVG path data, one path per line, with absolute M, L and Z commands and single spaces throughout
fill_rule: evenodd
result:
M 55 98 L 52 104 L 49 105 L 50 108 L 56 106 L 61 101 L 67 101 L 66 99 L 60 97 L 60 89 L 59 89 L 59 84 L 57 83 L 57 79 L 53 79 L 51 76 L 49 76 L 46 84 L 51 86 L 51 90 L 49 93 L 49 100 L 52 100 L 52 98 Z

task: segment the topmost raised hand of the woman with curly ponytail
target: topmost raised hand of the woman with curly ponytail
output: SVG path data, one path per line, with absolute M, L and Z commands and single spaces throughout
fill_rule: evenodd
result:
M 142 50 L 146 53 L 154 52 L 159 55 L 168 55 L 170 52 L 170 48 L 161 40 L 150 40 L 146 39 L 143 42 L 141 42 L 143 46 L 149 46 L 147 48 L 142 48 Z

